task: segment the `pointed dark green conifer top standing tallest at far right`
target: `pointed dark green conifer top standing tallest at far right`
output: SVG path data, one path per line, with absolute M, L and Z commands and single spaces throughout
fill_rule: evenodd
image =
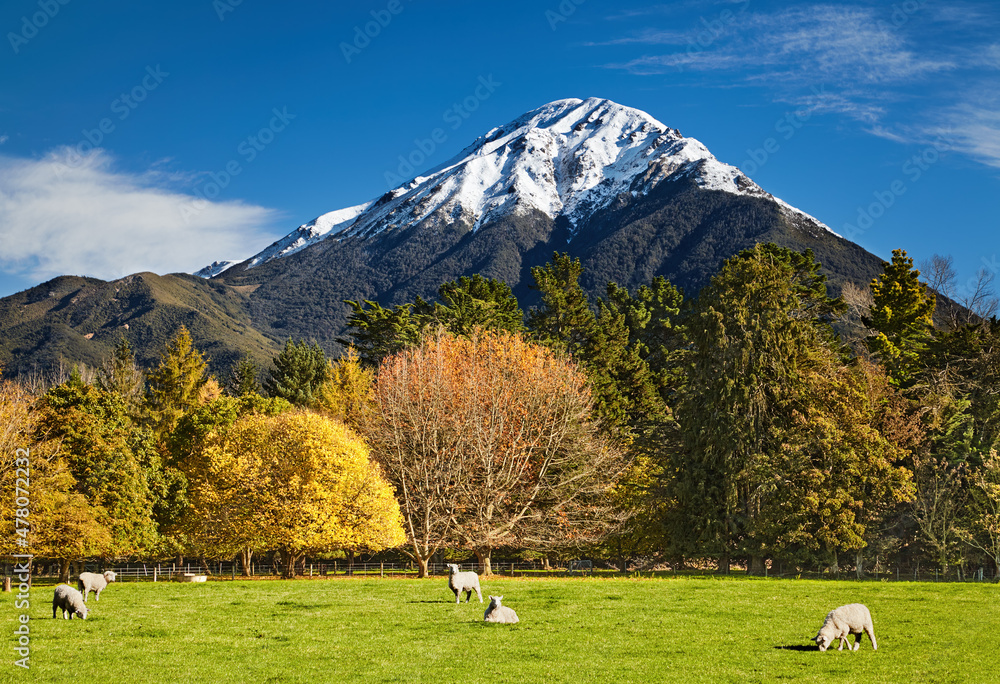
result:
M 892 250 L 892 261 L 871 282 L 871 319 L 865 321 L 875 331 L 868 338 L 869 350 L 904 389 L 914 382 L 933 330 L 935 296 L 919 278 L 906 251 Z

